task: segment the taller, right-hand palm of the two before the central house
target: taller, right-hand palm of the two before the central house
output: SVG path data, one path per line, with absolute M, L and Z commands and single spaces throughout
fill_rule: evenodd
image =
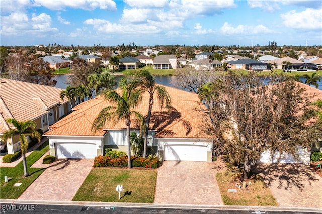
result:
M 147 136 L 149 132 L 149 124 L 152 114 L 152 106 L 154 104 L 154 93 L 157 95 L 157 99 L 159 100 L 160 106 L 166 104 L 166 108 L 170 108 L 171 99 L 165 87 L 158 86 L 155 84 L 155 78 L 151 73 L 147 70 L 136 71 L 132 73 L 134 77 L 134 84 L 136 84 L 139 88 L 143 89 L 149 94 L 149 109 L 146 116 L 146 126 L 144 133 L 144 147 L 143 147 L 143 157 L 146 157 L 146 147 L 147 147 Z

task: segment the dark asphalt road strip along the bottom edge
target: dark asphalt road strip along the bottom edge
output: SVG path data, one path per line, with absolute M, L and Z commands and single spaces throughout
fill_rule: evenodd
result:
M 162 207 L 120 207 L 120 206 L 87 206 L 87 205 L 46 205 L 46 204 L 8 204 L 2 203 L 0 213 L 240 213 L 240 214 L 271 214 L 271 213 L 318 213 L 298 211 L 263 211 L 245 209 L 208 209 L 208 208 L 162 208 Z

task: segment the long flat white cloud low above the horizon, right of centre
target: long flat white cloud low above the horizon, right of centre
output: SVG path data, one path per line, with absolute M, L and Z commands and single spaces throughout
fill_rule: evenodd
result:
M 253 34 L 261 34 L 261 33 L 272 33 L 270 29 L 268 29 L 264 25 L 238 25 L 237 27 L 233 27 L 232 25 L 225 22 L 223 26 L 220 28 L 220 31 L 226 35 L 253 35 Z

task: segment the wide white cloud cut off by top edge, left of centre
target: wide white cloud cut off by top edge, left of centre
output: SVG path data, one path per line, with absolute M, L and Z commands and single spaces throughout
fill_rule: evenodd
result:
M 80 8 L 83 10 L 94 10 L 96 8 L 104 10 L 116 10 L 116 3 L 112 0 L 34 0 L 34 6 L 43 6 L 51 10 L 62 10 L 64 8 Z

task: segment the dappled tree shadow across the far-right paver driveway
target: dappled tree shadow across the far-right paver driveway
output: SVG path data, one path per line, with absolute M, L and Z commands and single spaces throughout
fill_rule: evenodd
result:
M 275 181 L 278 182 L 277 188 L 285 190 L 298 188 L 302 191 L 305 185 L 320 181 L 314 170 L 303 164 L 261 163 L 255 165 L 252 172 L 260 174 L 267 186 Z

